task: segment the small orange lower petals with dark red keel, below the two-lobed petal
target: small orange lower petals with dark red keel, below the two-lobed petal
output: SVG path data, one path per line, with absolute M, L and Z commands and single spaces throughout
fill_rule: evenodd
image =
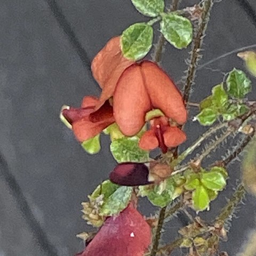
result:
M 150 120 L 150 130 L 146 131 L 140 141 L 139 147 L 145 150 L 161 148 L 163 153 L 168 148 L 177 147 L 186 140 L 186 134 L 177 126 L 170 126 L 165 116 Z

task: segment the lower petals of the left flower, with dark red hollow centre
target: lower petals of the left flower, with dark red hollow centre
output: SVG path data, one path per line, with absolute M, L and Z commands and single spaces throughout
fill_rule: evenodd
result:
M 95 111 L 95 106 L 99 100 L 95 97 L 84 97 L 81 108 L 66 108 L 62 110 L 62 115 L 72 125 L 72 130 L 78 141 L 89 140 L 106 127 L 115 122 L 113 108 L 109 101 Z M 93 113 L 93 116 L 91 114 Z

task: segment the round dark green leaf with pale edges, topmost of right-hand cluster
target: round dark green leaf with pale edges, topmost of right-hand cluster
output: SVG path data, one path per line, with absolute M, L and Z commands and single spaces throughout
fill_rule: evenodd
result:
M 227 78 L 227 90 L 232 97 L 242 99 L 252 90 L 251 80 L 244 71 L 234 68 Z

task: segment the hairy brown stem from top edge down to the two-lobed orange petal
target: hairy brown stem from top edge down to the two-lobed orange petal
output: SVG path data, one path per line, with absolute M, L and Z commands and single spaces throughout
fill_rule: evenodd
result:
M 190 63 L 188 66 L 188 75 L 187 75 L 184 94 L 183 94 L 183 100 L 185 101 L 185 104 L 189 99 L 191 86 L 194 83 L 197 63 L 200 58 L 199 51 L 200 51 L 202 43 L 203 43 L 203 36 L 204 36 L 205 30 L 207 27 L 207 23 L 209 21 L 209 16 L 210 16 L 210 11 L 211 11 L 212 5 L 213 5 L 212 0 L 204 1 L 204 10 L 202 12 L 202 19 L 201 19 L 201 22 L 199 23 L 199 27 L 198 27 L 196 36 L 194 38 L 193 50 L 192 50 L 192 54 L 191 54 L 191 58 L 190 58 Z

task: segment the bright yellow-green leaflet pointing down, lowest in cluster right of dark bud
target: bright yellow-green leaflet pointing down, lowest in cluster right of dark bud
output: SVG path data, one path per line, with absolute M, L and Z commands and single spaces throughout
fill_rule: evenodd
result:
M 193 206 L 197 211 L 205 210 L 210 203 L 210 198 L 204 186 L 197 187 L 192 193 Z

